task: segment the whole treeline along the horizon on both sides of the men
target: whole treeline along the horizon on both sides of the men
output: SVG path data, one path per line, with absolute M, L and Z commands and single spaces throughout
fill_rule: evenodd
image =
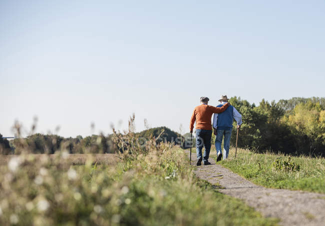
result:
M 288 100 L 262 101 L 256 106 L 240 97 L 229 102 L 242 114 L 238 146 L 253 151 L 265 150 L 290 154 L 325 155 L 325 98 L 293 97 Z M 133 118 L 134 120 L 134 118 Z M 231 144 L 235 144 L 235 122 Z M 214 137 L 214 135 L 212 134 Z M 122 136 L 121 136 L 122 137 Z M 165 126 L 135 133 L 139 142 L 151 137 L 156 142 L 174 142 L 183 148 L 190 146 L 190 134 L 181 135 Z M 212 142 L 214 143 L 214 138 Z M 195 145 L 195 138 L 192 140 Z M 118 150 L 113 135 L 76 136 L 64 138 L 53 134 L 32 134 L 26 138 L 6 140 L 0 134 L 0 153 L 20 153 L 23 149 L 32 153 L 54 153 L 66 149 L 69 153 L 113 153 Z

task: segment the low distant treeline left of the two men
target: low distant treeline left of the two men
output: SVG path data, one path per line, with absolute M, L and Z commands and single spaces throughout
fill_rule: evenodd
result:
M 25 138 L 15 138 L 8 141 L 2 139 L 2 135 L 0 134 L 0 153 L 19 154 L 23 150 L 26 150 L 30 153 L 52 154 L 60 149 L 67 150 L 69 153 L 114 153 L 117 147 L 114 145 L 112 136 L 112 134 L 99 134 L 86 137 L 78 135 L 75 138 L 64 138 L 55 134 L 35 133 Z M 182 135 L 165 126 L 137 132 L 134 137 L 137 137 L 143 145 L 151 137 L 156 138 L 156 143 L 173 142 L 181 147 L 185 145 Z

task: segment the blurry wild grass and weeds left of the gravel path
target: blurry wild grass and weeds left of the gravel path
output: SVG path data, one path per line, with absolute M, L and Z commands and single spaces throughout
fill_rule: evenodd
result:
M 1 225 L 275 225 L 193 176 L 168 145 L 120 156 L 115 166 L 20 155 L 0 166 Z

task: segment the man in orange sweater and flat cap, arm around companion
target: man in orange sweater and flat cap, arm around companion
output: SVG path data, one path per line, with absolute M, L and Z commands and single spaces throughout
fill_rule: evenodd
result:
M 203 164 L 209 165 L 208 162 L 210 148 L 211 148 L 211 117 L 213 113 L 221 113 L 230 105 L 229 103 L 223 104 L 221 107 L 207 105 L 209 98 L 201 96 L 200 105 L 194 108 L 193 114 L 190 118 L 189 131 L 192 134 L 194 122 L 196 121 L 196 165 L 201 165 L 202 161 L 202 147 L 204 144 Z

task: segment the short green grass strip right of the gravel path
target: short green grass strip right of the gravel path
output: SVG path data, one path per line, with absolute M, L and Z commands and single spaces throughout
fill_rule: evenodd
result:
M 280 154 L 258 154 L 245 149 L 237 149 L 237 158 L 234 158 L 234 152 L 234 148 L 231 148 L 228 159 L 221 160 L 218 164 L 256 184 L 325 193 L 325 158 L 288 158 Z

